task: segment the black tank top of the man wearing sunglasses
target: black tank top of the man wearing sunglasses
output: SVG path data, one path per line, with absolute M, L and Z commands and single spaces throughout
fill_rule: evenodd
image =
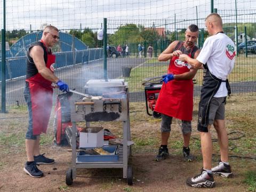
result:
M 40 41 L 33 43 L 27 51 L 27 58 L 26 58 L 26 62 L 27 62 L 27 69 L 26 69 L 26 79 L 35 76 L 38 73 L 38 70 L 36 68 L 36 65 L 34 63 L 34 60 L 30 57 L 29 52 L 30 49 L 35 46 L 35 45 L 39 45 L 43 48 L 44 50 L 44 62 L 45 65 L 47 63 L 47 51 L 46 51 L 46 47 L 44 46 L 44 44 Z

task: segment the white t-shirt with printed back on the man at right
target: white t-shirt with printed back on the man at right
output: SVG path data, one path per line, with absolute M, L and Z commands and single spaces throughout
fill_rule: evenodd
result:
M 210 36 L 196 59 L 204 65 L 207 62 L 211 74 L 225 81 L 235 65 L 234 42 L 223 33 Z M 226 82 L 222 82 L 214 97 L 226 97 L 227 93 Z

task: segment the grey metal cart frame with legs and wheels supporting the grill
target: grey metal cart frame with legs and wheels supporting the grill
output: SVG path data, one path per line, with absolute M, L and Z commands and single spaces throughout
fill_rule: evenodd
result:
M 113 162 L 77 162 L 77 152 L 76 152 L 76 123 L 77 122 L 86 122 L 86 127 L 90 126 L 90 122 L 94 122 L 93 119 L 90 119 L 90 121 L 86 121 L 86 114 L 97 112 L 97 105 L 101 106 L 102 102 L 104 103 L 105 101 L 93 101 L 95 109 L 91 110 L 92 108 L 92 101 L 88 105 L 81 105 L 81 102 L 79 103 L 79 106 L 77 107 L 75 102 L 73 106 L 73 109 L 71 107 L 71 122 L 72 122 L 72 138 L 71 138 L 71 143 L 72 143 L 72 164 L 71 167 L 68 169 L 67 174 L 66 174 L 66 184 L 67 185 L 72 185 L 73 180 L 76 178 L 77 174 L 76 171 L 77 169 L 82 169 L 82 168 L 121 168 L 123 169 L 123 178 L 127 179 L 127 183 L 129 185 L 132 185 L 132 167 L 128 165 L 129 161 L 129 155 L 131 155 L 131 145 L 127 145 L 127 141 L 131 140 L 131 132 L 130 132 L 130 118 L 129 118 L 129 102 L 127 99 L 127 90 L 126 90 L 126 98 L 125 99 L 118 99 L 119 104 L 116 106 L 116 111 L 119 111 L 119 117 L 116 119 L 108 120 L 110 121 L 122 121 L 123 122 L 123 146 L 119 146 L 119 159 L 118 161 L 113 161 Z M 117 103 L 117 101 L 113 100 L 108 100 L 106 102 L 113 102 L 114 104 Z M 109 111 L 115 110 L 115 106 L 111 105 L 111 109 Z M 120 109 L 120 106 L 122 106 L 122 109 Z M 107 106 L 108 107 L 108 106 Z M 102 108 L 102 107 L 101 107 Z M 110 108 L 110 104 L 109 104 Z M 87 112 L 87 111 L 88 112 Z M 108 108 L 105 110 L 108 111 Z M 105 111 L 105 112 L 106 112 Z M 90 116 L 91 117 L 91 116 Z M 88 119 L 87 119 L 88 120 Z M 106 120 L 106 119 L 105 119 Z

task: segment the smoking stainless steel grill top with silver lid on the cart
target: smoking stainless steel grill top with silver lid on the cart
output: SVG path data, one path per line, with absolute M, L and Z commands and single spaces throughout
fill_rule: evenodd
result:
M 79 99 L 74 102 L 71 121 L 126 121 L 128 114 L 127 83 L 124 79 L 96 79 L 87 82 L 86 93 L 100 95 L 101 100 Z

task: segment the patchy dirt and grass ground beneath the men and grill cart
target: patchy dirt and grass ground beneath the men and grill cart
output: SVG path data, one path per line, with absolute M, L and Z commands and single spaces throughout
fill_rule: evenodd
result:
M 228 131 L 241 131 L 245 137 L 230 141 L 231 155 L 255 155 L 255 119 L 249 118 L 256 107 L 255 98 L 234 97 L 227 103 Z M 135 145 L 132 149 L 131 165 L 133 168 L 133 186 L 128 186 L 122 179 L 122 169 L 78 169 L 73 185 L 66 185 L 66 171 L 71 165 L 69 147 L 53 144 L 52 119 L 47 134 L 42 136 L 41 153 L 54 158 L 56 163 L 40 165 L 44 172 L 43 178 L 31 178 L 24 171 L 26 162 L 25 133 L 27 129 L 26 109 L 9 109 L 8 114 L 0 114 L 0 191 L 198 191 L 190 188 L 185 181 L 188 177 L 198 174 L 202 167 L 199 135 L 196 127 L 196 109 L 193 120 L 193 137 L 191 151 L 197 157 L 194 162 L 185 162 L 181 154 L 182 137 L 179 121 L 172 125 L 169 139 L 170 157 L 163 162 L 155 162 L 160 132 L 160 121 L 152 119 L 144 111 L 144 103 L 131 103 L 131 133 Z M 52 113 L 53 114 L 53 113 Z M 254 112 L 255 114 L 255 112 Z M 53 115 L 52 115 L 53 116 Z M 19 118 L 20 117 L 20 118 Z M 244 122 L 243 119 L 246 119 Z M 122 123 L 95 123 L 111 130 L 122 137 Z M 213 134 L 215 137 L 215 134 Z M 253 144 L 254 143 L 254 144 Z M 214 143 L 213 164 L 218 162 L 218 145 Z M 230 158 L 234 178 L 215 177 L 217 183 L 207 191 L 245 191 L 248 186 L 243 182 L 248 170 L 255 170 L 255 160 L 247 158 Z M 121 176 L 121 177 L 116 177 Z

